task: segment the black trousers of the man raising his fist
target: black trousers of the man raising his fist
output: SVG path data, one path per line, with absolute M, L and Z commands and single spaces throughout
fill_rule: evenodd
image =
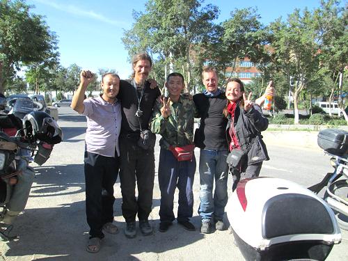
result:
M 118 176 L 119 157 L 85 152 L 84 164 L 89 235 L 103 238 L 102 227 L 113 221 L 113 184 Z

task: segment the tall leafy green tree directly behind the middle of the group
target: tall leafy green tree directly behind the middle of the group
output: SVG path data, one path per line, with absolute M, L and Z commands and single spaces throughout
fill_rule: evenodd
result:
M 144 13 L 134 13 L 136 22 L 122 38 L 129 53 L 148 51 L 154 57 L 177 64 L 191 83 L 191 49 L 207 42 L 213 20 L 219 15 L 216 6 L 202 7 L 203 0 L 149 0 Z M 135 43 L 135 47 L 132 46 Z M 201 49 L 202 50 L 202 49 Z M 155 75 L 156 79 L 156 75 Z

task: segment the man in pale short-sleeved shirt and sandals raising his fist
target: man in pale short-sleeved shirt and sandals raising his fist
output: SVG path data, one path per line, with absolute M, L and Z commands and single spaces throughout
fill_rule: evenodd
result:
M 86 250 L 95 253 L 100 250 L 103 230 L 116 234 L 113 225 L 113 184 L 119 169 L 120 150 L 118 136 L 121 127 L 121 106 L 117 100 L 120 77 L 107 73 L 102 77 L 102 95 L 84 100 L 84 93 L 93 73 L 82 71 L 81 83 L 74 97 L 72 109 L 87 118 L 84 172 L 86 179 L 86 216 L 90 226 L 90 239 Z

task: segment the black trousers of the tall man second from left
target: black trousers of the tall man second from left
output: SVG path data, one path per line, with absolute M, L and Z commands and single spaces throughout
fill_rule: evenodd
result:
M 148 219 L 152 207 L 155 179 L 154 149 L 143 150 L 137 139 L 120 137 L 120 182 L 122 191 L 122 214 L 127 223 Z M 138 186 L 138 198 L 135 185 Z

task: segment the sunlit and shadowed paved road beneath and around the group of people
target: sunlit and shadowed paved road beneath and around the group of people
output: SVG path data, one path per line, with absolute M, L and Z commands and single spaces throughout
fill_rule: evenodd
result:
M 158 232 L 160 196 L 157 177 L 150 216 L 155 234 L 143 237 L 139 233 L 135 239 L 125 238 L 122 232 L 116 236 L 106 235 L 100 253 L 87 253 L 88 226 L 84 212 L 82 162 L 86 120 L 70 108 L 59 108 L 59 113 L 58 123 L 63 128 L 64 141 L 54 147 L 52 157 L 44 166 L 35 166 L 36 177 L 29 202 L 14 229 L 20 239 L 0 243 L 0 260 L 244 260 L 239 249 L 233 245 L 233 237 L 228 230 L 204 235 L 198 231 L 188 232 L 174 224 L 168 232 Z M 271 161 L 264 163 L 261 175 L 284 177 L 308 186 L 331 171 L 328 157 L 320 150 L 295 150 L 294 147 L 280 147 L 274 143 L 274 139 L 267 141 Z M 158 154 L 159 150 L 156 159 Z M 198 154 L 196 149 L 197 158 Z M 193 188 L 195 205 L 192 220 L 199 228 L 200 219 L 196 212 L 199 204 L 198 173 Z M 125 223 L 120 209 L 119 180 L 115 185 L 115 196 L 115 221 L 122 229 Z M 342 243 L 334 246 L 327 260 L 348 260 L 348 233 L 343 232 L 343 237 Z

